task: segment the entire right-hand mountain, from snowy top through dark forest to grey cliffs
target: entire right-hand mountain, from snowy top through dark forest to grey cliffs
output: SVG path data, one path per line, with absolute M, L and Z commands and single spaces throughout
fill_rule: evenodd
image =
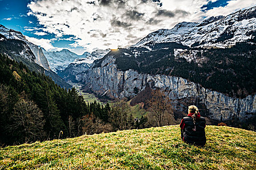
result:
M 205 108 L 217 121 L 256 116 L 256 7 L 200 23 L 182 22 L 96 60 L 80 81 L 102 100 L 145 102 L 161 88 L 177 112 Z

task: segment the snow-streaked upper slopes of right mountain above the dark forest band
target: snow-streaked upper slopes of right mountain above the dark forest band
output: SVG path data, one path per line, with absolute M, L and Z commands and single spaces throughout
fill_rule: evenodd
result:
M 160 29 L 148 34 L 132 47 L 147 44 L 178 42 L 189 47 L 220 47 L 247 41 L 256 34 L 256 7 L 240 10 L 226 17 L 210 17 L 197 22 L 181 22 L 172 29 Z

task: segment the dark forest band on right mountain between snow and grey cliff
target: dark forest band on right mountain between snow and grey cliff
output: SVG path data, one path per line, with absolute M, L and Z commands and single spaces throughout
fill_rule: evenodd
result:
M 188 50 L 188 53 L 195 50 L 202 51 L 196 54 L 197 58 L 204 58 L 204 61 L 198 65 L 195 61 L 188 62 L 185 58 L 174 56 L 174 49 L 188 49 L 186 46 L 177 43 L 160 44 L 152 45 L 151 48 L 154 49 L 152 51 L 145 48 L 130 48 L 111 51 L 108 55 L 116 57 L 117 67 L 122 71 L 134 69 L 139 73 L 182 77 L 230 97 L 245 98 L 256 93 L 255 45 L 243 42 L 226 49 Z M 134 50 L 139 53 L 136 57 L 133 54 Z M 100 67 L 103 59 L 96 62 L 94 67 Z

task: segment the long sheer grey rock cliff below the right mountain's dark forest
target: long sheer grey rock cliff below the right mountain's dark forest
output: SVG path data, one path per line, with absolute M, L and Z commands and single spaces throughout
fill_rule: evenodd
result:
M 99 96 L 108 94 L 110 97 L 131 98 L 136 96 L 135 89 L 141 91 L 148 85 L 153 89 L 164 89 L 172 100 L 197 98 L 206 106 L 209 117 L 218 121 L 248 119 L 256 114 L 256 95 L 244 99 L 231 98 L 180 77 L 139 74 L 132 69 L 118 71 L 112 56 L 106 57 L 101 67 L 91 67 L 80 80 Z

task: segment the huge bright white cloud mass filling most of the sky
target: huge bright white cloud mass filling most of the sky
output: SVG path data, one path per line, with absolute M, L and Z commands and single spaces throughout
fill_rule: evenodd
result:
M 60 38 L 73 35 L 78 39 L 70 46 L 92 51 L 126 47 L 153 31 L 171 29 L 182 21 L 199 22 L 256 5 L 255 0 L 230 0 L 226 6 L 202 11 L 201 7 L 208 3 L 209 0 L 33 0 L 28 4 L 27 15 L 37 17 L 43 32 Z

